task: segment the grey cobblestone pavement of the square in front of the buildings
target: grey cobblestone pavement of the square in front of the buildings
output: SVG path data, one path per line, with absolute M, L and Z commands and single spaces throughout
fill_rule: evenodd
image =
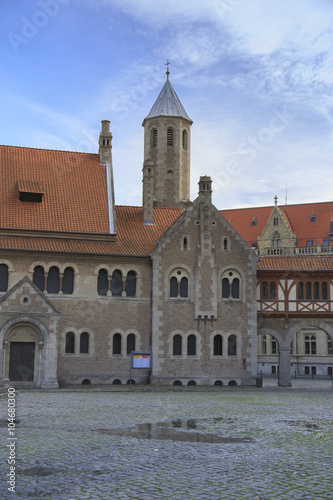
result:
M 1 399 L 0 498 L 332 500 L 332 382 L 275 384 L 21 390 L 16 493 L 7 490 L 7 400 Z M 146 423 L 156 425 L 138 426 Z M 170 428 L 172 439 L 161 439 L 160 428 Z M 201 442 L 212 434 L 222 442 Z

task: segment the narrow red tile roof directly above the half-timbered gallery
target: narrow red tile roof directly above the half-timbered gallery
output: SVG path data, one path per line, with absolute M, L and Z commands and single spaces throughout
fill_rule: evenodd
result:
M 332 256 L 260 257 L 257 262 L 259 271 L 332 271 Z

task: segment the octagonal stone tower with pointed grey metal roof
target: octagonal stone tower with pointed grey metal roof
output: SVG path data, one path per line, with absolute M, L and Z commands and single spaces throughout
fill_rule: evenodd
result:
M 169 80 L 143 120 L 143 218 L 152 221 L 152 207 L 183 207 L 190 199 L 192 120 Z

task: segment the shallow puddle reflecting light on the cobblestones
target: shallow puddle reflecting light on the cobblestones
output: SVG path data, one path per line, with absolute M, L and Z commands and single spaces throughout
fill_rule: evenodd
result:
M 201 423 L 218 423 L 223 419 L 173 420 L 172 422 L 156 422 L 138 424 L 122 429 L 96 429 L 100 434 L 110 436 L 131 437 L 136 439 L 156 439 L 160 441 L 183 441 L 189 443 L 253 443 L 251 437 L 223 437 L 210 432 L 200 432 Z

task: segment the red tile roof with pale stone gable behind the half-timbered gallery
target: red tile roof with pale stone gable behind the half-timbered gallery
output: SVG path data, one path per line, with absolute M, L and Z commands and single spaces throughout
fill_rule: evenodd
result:
M 222 215 L 230 222 L 242 238 L 252 245 L 257 242 L 258 235 L 262 233 L 265 224 L 273 210 L 271 207 L 240 208 L 234 210 L 221 210 Z M 297 246 L 305 247 L 308 240 L 313 240 L 313 246 L 323 244 L 328 239 L 330 230 L 333 202 L 304 203 L 299 205 L 281 205 L 280 210 L 289 221 L 292 231 L 296 234 Z M 310 222 L 312 214 L 316 222 Z M 252 226 L 253 218 L 257 225 Z

